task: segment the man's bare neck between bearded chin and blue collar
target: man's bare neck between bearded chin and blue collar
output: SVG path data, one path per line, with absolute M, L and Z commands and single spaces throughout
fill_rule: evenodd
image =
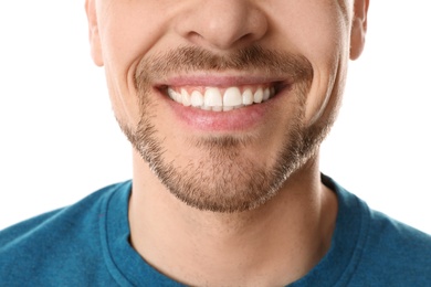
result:
M 320 183 L 316 161 L 264 205 L 214 213 L 177 200 L 135 155 L 132 244 L 151 266 L 188 285 L 292 283 L 325 255 L 335 225 L 335 194 Z

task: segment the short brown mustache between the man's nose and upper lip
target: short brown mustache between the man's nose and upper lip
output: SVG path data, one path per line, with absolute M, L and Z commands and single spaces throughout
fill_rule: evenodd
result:
M 287 77 L 311 83 L 313 66 L 303 55 L 248 46 L 229 54 L 216 54 L 196 46 L 180 46 L 164 53 L 144 56 L 135 71 L 135 87 L 139 91 L 169 74 L 193 71 L 259 71 L 263 76 Z

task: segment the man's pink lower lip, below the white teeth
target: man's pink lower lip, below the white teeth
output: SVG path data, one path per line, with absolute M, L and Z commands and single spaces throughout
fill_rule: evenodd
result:
M 161 94 L 161 93 L 160 93 Z M 265 121 L 271 106 L 274 106 L 277 96 L 262 103 L 229 111 L 210 111 L 195 107 L 186 107 L 162 95 L 180 123 L 200 131 L 244 131 Z

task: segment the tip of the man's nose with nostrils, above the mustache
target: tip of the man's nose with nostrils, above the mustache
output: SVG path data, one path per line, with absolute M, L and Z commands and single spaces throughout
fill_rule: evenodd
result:
M 179 22 L 179 33 L 189 42 L 230 50 L 259 41 L 266 33 L 264 13 L 249 1 L 210 0 L 195 7 Z

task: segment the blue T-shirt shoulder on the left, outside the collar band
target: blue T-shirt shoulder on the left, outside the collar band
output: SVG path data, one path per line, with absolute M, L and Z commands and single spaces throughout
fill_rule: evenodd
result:
M 129 185 L 124 182 L 106 187 L 71 206 L 1 231 L 0 285 L 14 286 L 31 278 L 44 286 L 70 286 L 80 284 L 80 277 L 97 276 L 101 270 L 91 276 L 78 274 L 103 266 L 99 222 L 112 194 Z M 54 281 L 46 284 L 48 279 Z

